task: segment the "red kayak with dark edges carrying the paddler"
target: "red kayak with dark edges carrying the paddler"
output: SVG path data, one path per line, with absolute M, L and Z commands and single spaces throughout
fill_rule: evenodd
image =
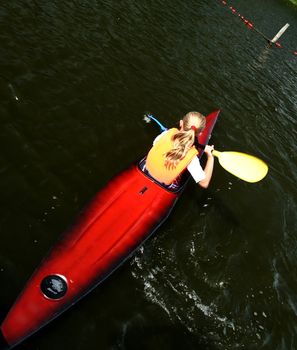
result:
M 199 136 L 207 144 L 219 111 Z M 201 157 L 203 151 L 200 150 Z M 27 282 L 0 327 L 9 349 L 59 316 L 127 260 L 166 220 L 182 193 L 130 166 L 99 191 Z

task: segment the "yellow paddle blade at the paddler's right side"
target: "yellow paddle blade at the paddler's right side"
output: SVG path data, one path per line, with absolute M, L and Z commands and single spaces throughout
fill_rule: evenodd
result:
M 249 154 L 216 150 L 212 154 L 219 159 L 219 163 L 225 170 L 247 182 L 260 181 L 268 172 L 268 166 L 263 160 Z

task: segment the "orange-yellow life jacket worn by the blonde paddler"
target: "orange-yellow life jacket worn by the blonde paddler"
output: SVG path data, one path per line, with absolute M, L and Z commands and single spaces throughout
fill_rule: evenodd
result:
M 182 158 L 177 166 L 172 169 L 165 167 L 165 154 L 173 147 L 173 136 L 178 129 L 169 129 L 164 135 L 161 135 L 154 146 L 149 151 L 146 158 L 146 169 L 150 175 L 159 182 L 170 185 L 188 166 L 191 160 L 198 154 L 193 146 L 187 154 Z

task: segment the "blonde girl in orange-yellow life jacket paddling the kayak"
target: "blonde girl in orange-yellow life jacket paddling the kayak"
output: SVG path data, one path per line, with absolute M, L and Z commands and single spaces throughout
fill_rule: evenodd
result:
M 213 172 L 214 147 L 205 147 L 207 161 L 203 170 L 194 146 L 195 137 L 204 129 L 205 123 L 201 113 L 189 112 L 180 120 L 179 130 L 172 128 L 157 136 L 146 158 L 145 168 L 150 176 L 169 188 L 175 188 L 187 168 L 196 183 L 207 188 Z

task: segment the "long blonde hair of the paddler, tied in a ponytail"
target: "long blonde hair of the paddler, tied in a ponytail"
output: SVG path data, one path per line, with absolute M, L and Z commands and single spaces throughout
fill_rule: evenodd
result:
M 165 153 L 165 167 L 176 168 L 178 162 L 185 157 L 193 146 L 195 135 L 205 127 L 205 117 L 199 112 L 189 112 L 182 119 L 182 130 L 173 136 L 173 147 Z

